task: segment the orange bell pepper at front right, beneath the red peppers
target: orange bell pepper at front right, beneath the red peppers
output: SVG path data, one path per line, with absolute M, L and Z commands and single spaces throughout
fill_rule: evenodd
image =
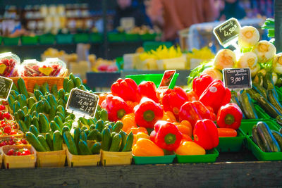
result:
M 176 149 L 176 154 L 181 156 L 205 155 L 206 151 L 195 142 L 183 142 Z

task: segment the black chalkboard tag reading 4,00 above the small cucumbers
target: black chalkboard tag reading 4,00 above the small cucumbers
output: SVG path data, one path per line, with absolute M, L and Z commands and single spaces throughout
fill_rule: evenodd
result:
M 66 110 L 81 117 L 94 118 L 98 103 L 99 96 L 96 94 L 74 88 L 68 97 Z

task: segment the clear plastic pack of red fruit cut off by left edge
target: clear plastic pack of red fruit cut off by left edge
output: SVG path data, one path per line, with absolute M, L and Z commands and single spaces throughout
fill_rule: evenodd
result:
M 20 58 L 11 52 L 0 54 L 0 76 L 18 77 Z

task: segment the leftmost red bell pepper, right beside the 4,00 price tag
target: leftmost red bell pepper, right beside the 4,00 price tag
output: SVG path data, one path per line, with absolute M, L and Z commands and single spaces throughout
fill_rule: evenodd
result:
M 101 107 L 108 111 L 109 120 L 111 121 L 121 120 L 125 114 L 131 112 L 128 105 L 121 97 L 113 96 L 112 94 L 106 96 Z

